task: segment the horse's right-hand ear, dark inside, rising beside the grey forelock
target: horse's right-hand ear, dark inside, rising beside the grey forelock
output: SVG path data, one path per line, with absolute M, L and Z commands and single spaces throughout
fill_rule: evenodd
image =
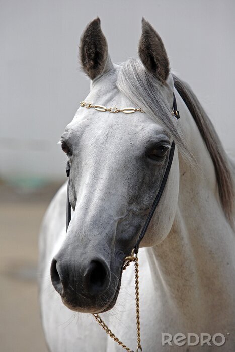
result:
M 144 18 L 139 41 L 139 57 L 148 72 L 162 83 L 167 80 L 170 68 L 166 49 L 158 33 Z

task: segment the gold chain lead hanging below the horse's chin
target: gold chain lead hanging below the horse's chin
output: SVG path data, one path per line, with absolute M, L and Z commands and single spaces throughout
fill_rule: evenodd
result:
M 139 263 L 138 263 L 138 256 L 135 254 L 135 256 L 128 256 L 125 259 L 125 263 L 123 266 L 122 270 L 125 270 L 130 263 L 134 261 L 135 262 L 135 307 L 136 307 L 136 332 L 137 332 L 137 349 L 136 352 L 142 352 L 142 347 L 141 347 L 141 340 L 140 340 L 140 318 L 139 318 Z M 115 335 L 114 333 L 108 328 L 108 326 L 104 323 L 104 321 L 101 319 L 99 314 L 92 314 L 98 324 L 102 327 L 102 329 L 105 330 L 105 332 L 114 339 L 115 342 L 119 344 L 123 349 L 125 349 L 127 352 L 133 352 L 130 348 L 128 348 L 124 343 L 122 343 Z

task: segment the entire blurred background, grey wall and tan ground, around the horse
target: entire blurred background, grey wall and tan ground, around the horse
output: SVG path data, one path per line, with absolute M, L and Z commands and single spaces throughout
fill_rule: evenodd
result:
M 0 1 L 1 352 L 46 351 L 37 236 L 65 179 L 66 159 L 56 143 L 89 91 L 77 63 L 87 23 L 100 16 L 111 58 L 121 62 L 137 56 L 141 17 L 150 21 L 171 67 L 191 84 L 235 155 L 234 13 L 233 0 Z

